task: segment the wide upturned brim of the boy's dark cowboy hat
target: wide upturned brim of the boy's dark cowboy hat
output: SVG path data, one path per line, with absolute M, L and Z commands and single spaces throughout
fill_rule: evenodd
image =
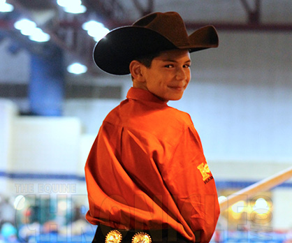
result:
M 110 31 L 94 47 L 94 62 L 106 73 L 129 74 L 133 59 L 146 54 L 173 49 L 188 49 L 190 52 L 218 46 L 217 32 L 212 26 L 203 27 L 189 36 L 190 44 L 176 46 L 168 38 L 143 27 L 120 27 Z

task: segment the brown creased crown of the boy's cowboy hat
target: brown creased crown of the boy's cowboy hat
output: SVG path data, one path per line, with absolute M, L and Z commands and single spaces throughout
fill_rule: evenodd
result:
M 151 29 L 168 38 L 177 47 L 189 45 L 189 36 L 184 20 L 176 12 L 152 13 L 137 20 L 133 27 Z

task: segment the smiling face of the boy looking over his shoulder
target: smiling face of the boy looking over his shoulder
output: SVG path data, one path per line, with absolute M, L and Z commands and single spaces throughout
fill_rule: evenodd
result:
M 177 101 L 191 80 L 191 59 L 188 50 L 161 52 L 150 68 L 142 67 L 143 86 L 162 101 Z

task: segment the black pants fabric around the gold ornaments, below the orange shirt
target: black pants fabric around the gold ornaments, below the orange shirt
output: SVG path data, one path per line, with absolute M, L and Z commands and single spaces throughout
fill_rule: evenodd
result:
M 114 230 L 108 226 L 98 226 L 92 242 L 105 243 L 105 236 Z M 189 243 L 175 230 L 119 230 L 122 233 L 122 243 L 131 243 L 133 235 L 144 232 L 150 235 L 152 243 Z

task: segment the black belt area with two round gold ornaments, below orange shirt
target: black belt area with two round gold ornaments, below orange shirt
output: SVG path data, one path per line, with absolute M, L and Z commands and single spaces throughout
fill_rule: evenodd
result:
M 196 242 L 200 242 L 200 232 L 196 231 Z M 180 233 L 173 229 L 161 230 L 119 230 L 100 225 L 92 242 L 98 243 L 189 243 Z

